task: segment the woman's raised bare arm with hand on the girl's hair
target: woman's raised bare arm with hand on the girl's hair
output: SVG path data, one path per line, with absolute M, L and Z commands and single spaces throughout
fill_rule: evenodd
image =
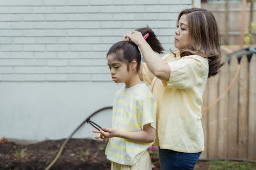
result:
M 168 81 L 170 77 L 170 68 L 151 48 L 151 46 L 144 40 L 142 34 L 138 31 L 132 31 L 124 35 L 124 41 L 131 40 L 140 47 L 143 58 L 146 61 L 147 67 L 153 75 L 158 79 Z

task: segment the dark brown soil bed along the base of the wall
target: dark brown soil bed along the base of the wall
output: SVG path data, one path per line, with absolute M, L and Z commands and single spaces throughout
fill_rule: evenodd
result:
M 56 157 L 65 139 L 46 140 L 32 144 L 0 143 L 0 169 L 45 169 Z M 107 170 L 111 163 L 104 154 L 106 142 L 94 139 L 70 139 L 51 169 Z M 156 151 L 157 152 L 157 151 Z M 151 154 L 154 170 L 160 169 L 156 152 Z M 198 169 L 208 169 L 207 162 L 199 161 Z

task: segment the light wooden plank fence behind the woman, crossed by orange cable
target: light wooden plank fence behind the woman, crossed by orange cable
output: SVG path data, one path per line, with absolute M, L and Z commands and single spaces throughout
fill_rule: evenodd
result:
M 240 63 L 233 56 L 220 74 L 208 79 L 203 108 L 211 105 L 230 85 L 240 65 L 238 76 L 221 100 L 202 113 L 205 151 L 201 159 L 256 160 L 256 55 Z

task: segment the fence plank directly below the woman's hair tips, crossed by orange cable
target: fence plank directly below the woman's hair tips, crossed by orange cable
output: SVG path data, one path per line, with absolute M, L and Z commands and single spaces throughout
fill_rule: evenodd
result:
M 219 75 L 209 79 L 209 105 L 218 98 L 218 80 Z M 208 156 L 209 158 L 217 158 L 217 147 L 218 144 L 218 104 L 212 106 L 209 109 L 209 131 L 208 133 Z

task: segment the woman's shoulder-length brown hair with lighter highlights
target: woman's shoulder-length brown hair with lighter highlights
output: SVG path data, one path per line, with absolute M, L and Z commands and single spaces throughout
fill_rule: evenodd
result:
M 208 58 L 208 78 L 218 74 L 221 61 L 220 34 L 216 19 L 212 13 L 202 8 L 190 8 L 180 12 L 187 16 L 191 46 L 181 50 L 181 57 L 196 54 Z

